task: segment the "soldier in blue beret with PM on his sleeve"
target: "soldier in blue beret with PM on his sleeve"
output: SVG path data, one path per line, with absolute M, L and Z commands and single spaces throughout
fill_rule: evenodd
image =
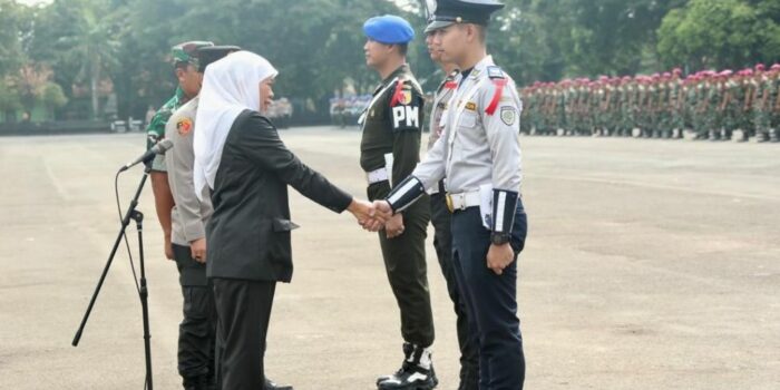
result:
M 365 62 L 380 76 L 371 101 L 360 117 L 363 136 L 360 165 L 368 182 L 369 199 L 382 199 L 409 176 L 420 160 L 423 95 L 407 64 L 408 43 L 415 31 L 408 21 L 386 14 L 363 25 Z M 430 207 L 420 202 L 394 215 L 379 232 L 379 244 L 401 312 L 403 362 L 391 376 L 380 377 L 380 389 L 436 387 L 430 347 L 433 315 L 428 290 L 426 236 Z

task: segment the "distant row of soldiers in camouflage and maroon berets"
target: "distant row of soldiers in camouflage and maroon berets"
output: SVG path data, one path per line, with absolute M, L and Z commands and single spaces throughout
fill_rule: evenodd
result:
M 520 95 L 529 135 L 780 140 L 780 64 L 536 82 Z

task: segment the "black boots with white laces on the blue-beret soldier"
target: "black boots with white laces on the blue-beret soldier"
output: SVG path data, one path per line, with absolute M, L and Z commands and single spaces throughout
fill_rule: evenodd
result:
M 377 380 L 378 389 L 430 390 L 439 384 L 429 349 L 403 343 L 403 363 L 394 374 Z

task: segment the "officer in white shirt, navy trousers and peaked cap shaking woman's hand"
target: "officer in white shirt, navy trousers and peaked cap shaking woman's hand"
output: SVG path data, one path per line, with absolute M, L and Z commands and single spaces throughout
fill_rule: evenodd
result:
M 454 267 L 479 341 L 480 389 L 523 388 L 525 357 L 517 314 L 517 257 L 527 220 L 520 197 L 515 82 L 487 55 L 485 30 L 504 4 L 441 0 L 428 26 L 442 60 L 461 74 L 443 114 L 445 130 L 426 159 L 378 207 L 403 211 L 447 177 Z

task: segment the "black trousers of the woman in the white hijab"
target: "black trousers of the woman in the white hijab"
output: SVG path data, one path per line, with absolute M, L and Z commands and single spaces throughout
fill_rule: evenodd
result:
M 276 282 L 214 277 L 223 389 L 263 390 L 265 337 Z

